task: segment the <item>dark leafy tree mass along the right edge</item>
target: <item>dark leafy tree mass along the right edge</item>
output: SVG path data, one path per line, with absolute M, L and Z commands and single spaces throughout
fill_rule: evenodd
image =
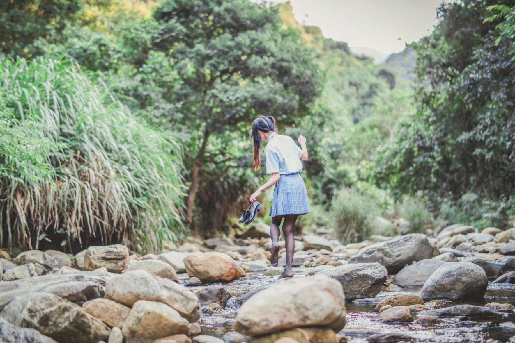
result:
M 399 193 L 458 199 L 515 191 L 515 63 L 488 7 L 444 3 L 434 32 L 417 44 L 417 112 L 376 160 L 375 181 Z

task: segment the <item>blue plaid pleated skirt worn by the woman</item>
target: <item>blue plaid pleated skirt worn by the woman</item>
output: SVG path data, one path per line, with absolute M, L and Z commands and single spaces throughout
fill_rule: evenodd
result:
M 281 179 L 273 189 L 269 215 L 306 213 L 310 213 L 310 206 L 307 204 L 304 180 L 299 173 L 281 175 Z

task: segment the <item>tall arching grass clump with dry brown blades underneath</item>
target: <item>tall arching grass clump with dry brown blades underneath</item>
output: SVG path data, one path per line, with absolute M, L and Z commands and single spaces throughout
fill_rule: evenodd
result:
M 120 242 L 183 231 L 182 154 L 67 58 L 0 57 L 0 243 Z M 55 239 L 59 238 L 59 242 Z

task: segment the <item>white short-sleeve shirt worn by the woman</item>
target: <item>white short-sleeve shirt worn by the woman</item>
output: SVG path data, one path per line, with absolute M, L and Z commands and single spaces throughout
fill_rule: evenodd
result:
M 302 150 L 288 136 L 272 132 L 266 140 L 266 173 L 295 174 L 302 171 Z

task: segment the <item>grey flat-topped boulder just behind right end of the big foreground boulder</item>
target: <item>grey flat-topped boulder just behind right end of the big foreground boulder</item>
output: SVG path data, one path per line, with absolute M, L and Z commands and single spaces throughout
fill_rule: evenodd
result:
M 338 280 L 347 300 L 375 297 L 388 278 L 386 268 L 379 263 L 345 264 L 322 270 L 316 275 Z

